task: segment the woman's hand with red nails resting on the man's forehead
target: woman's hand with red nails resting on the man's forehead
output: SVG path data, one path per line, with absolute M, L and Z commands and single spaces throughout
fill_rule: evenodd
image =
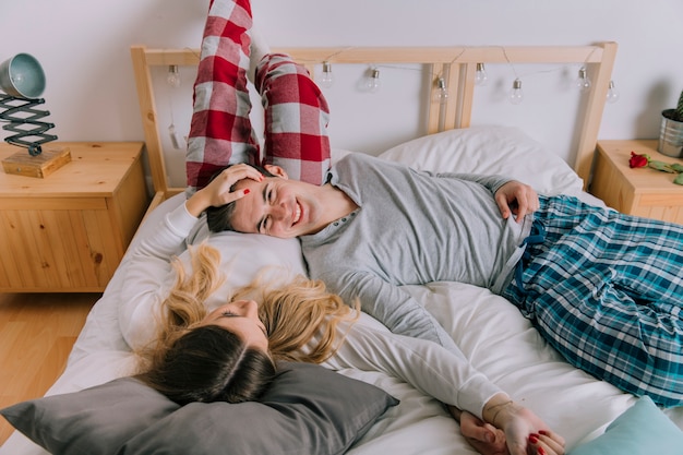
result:
M 245 164 L 230 166 L 188 199 L 185 202 L 188 212 L 193 216 L 200 216 L 208 207 L 218 207 L 243 197 L 249 193 L 248 189 L 230 191 L 235 183 L 243 179 L 259 182 L 263 180 L 263 175 Z

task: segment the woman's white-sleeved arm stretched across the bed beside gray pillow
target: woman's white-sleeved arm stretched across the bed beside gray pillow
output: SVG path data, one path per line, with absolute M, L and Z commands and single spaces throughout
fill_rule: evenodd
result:
M 542 452 L 547 455 L 563 453 L 561 436 L 531 410 L 514 403 L 464 355 L 432 342 L 393 334 L 367 314 L 361 314 L 337 354 L 325 363 L 334 369 L 373 369 L 400 378 L 450 405 L 456 420 L 459 410 L 465 410 L 503 430 L 503 441 L 512 455 L 526 455 L 527 445 L 546 447 Z

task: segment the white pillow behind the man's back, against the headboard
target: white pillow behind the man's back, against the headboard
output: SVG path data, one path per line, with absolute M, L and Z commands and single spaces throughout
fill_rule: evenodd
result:
M 561 157 L 514 127 L 448 130 L 403 143 L 380 157 L 419 170 L 508 176 L 547 195 L 578 195 L 584 187 Z

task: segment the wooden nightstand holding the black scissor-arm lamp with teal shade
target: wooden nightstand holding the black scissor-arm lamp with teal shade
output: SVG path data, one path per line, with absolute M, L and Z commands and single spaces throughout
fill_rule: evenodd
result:
M 55 145 L 72 160 L 44 179 L 0 170 L 0 292 L 103 291 L 149 203 L 142 142 Z

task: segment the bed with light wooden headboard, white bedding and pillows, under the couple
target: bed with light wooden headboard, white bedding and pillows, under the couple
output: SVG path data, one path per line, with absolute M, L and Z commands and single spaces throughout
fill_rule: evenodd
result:
M 431 96 L 424 97 L 429 103 L 421 108 L 421 117 L 422 120 L 427 118 L 428 134 L 385 151 L 380 155 L 382 158 L 440 171 L 477 171 L 486 168 L 490 173 L 512 175 L 530 183 L 541 193 L 567 193 L 594 204 L 601 204 L 601 201 L 590 196 L 585 190 L 589 182 L 592 154 L 616 53 L 614 43 L 566 47 L 357 47 L 279 50 L 305 63 L 311 72 L 315 72 L 320 62 L 328 60 L 335 64 L 411 63 L 422 65 L 429 74 L 445 76 L 448 86 L 454 87 L 452 93 L 457 96 L 451 96 L 445 106 L 432 103 Z M 167 177 L 151 70 L 155 67 L 192 67 L 197 63 L 197 52 L 192 49 L 148 49 L 134 46 L 131 48 L 131 56 L 155 197 L 129 251 L 145 236 L 153 236 L 155 224 L 184 200 L 184 189 L 171 187 Z M 477 63 L 481 62 L 579 63 L 589 68 L 595 88 L 588 95 L 582 118 L 577 122 L 578 140 L 574 164 L 568 165 L 556 155 L 547 153 L 543 146 L 517 128 L 470 125 L 475 72 Z M 430 86 L 432 91 L 438 88 L 436 84 Z M 334 149 L 333 160 L 345 153 L 361 152 Z M 297 251 L 291 242 L 280 244 L 275 239 L 265 237 L 249 237 L 247 241 L 238 238 L 239 235 L 223 236 L 221 241 L 226 248 L 233 248 L 236 254 L 245 254 L 252 259 L 249 267 L 239 270 L 231 276 L 235 285 L 247 283 L 259 267 L 277 263 L 278 251 L 281 254 Z M 46 394 L 49 397 L 34 400 L 29 411 L 24 409 L 23 424 L 28 428 L 24 431 L 44 445 L 61 447 L 57 452 L 87 453 L 77 452 L 73 447 L 70 450 L 69 444 L 76 440 L 80 444 L 86 444 L 86 447 L 92 444 L 88 440 L 98 436 L 98 429 L 111 424 L 107 418 L 117 414 L 117 406 L 129 412 L 128 421 L 135 427 L 128 431 L 137 434 L 145 430 L 143 423 L 135 423 L 135 411 L 130 411 L 130 406 L 142 406 L 145 403 L 144 397 L 118 395 L 109 403 L 103 395 L 86 396 L 87 391 L 80 392 L 109 383 L 132 371 L 134 357 L 118 330 L 117 321 L 118 295 L 125 285 L 122 271 L 127 267 L 127 258 L 89 313 L 65 371 Z M 674 453 L 671 452 L 674 447 L 683 446 L 680 442 L 683 434 L 680 431 L 683 429 L 683 408 L 660 411 L 646 400 L 624 394 L 571 367 L 540 338 L 519 311 L 503 298 L 486 289 L 458 283 L 432 283 L 426 286 L 407 286 L 405 289 L 419 298 L 439 319 L 476 368 L 563 434 L 572 453 L 608 453 L 604 452 L 606 446 L 616 450 L 614 453 L 640 453 L 637 452 L 640 446 L 645 447 L 642 453 L 655 453 L 657 444 L 663 444 L 659 446 L 659 452 Z M 315 445 L 315 450 L 301 448 L 300 453 L 476 453 L 459 435 L 453 419 L 433 398 L 381 372 L 345 369 L 339 373 L 344 378 L 373 384 L 399 403 L 385 404 L 386 406 L 363 420 L 358 428 L 349 430 L 344 442 L 334 450 L 323 451 Z M 45 402 L 50 398 L 55 400 Z M 140 403 L 131 404 L 131 399 Z M 69 405 L 72 406 L 71 410 L 64 411 L 64 407 Z M 103 411 L 103 406 L 110 407 Z M 359 414 L 358 410 L 351 412 Z M 158 416 L 156 418 L 160 419 Z M 168 432 L 172 431 L 169 428 L 178 427 L 165 428 Z M 324 431 L 329 435 L 340 430 L 325 427 Z M 77 434 L 71 434 L 74 432 Z M 619 452 L 619 444 L 626 444 L 624 446 L 628 451 Z M 173 453 L 170 448 L 159 447 L 161 445 L 155 450 L 121 453 Z M 109 450 L 110 452 L 93 450 L 91 454 L 118 453 L 118 446 L 110 446 Z M 20 431 L 15 431 L 0 447 L 1 455 L 43 453 L 46 452 L 40 445 Z

